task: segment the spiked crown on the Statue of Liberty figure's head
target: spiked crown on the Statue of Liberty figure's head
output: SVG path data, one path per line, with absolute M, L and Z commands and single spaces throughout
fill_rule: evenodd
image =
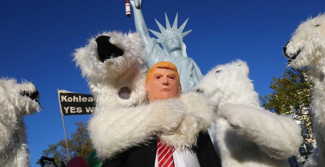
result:
M 179 37 L 179 39 L 180 39 L 181 41 L 183 41 L 183 37 L 186 36 L 187 34 L 189 34 L 189 33 L 192 31 L 192 29 L 191 29 L 191 30 L 188 30 L 188 31 L 186 31 L 186 32 L 183 32 L 183 30 L 184 30 L 184 28 L 185 28 L 185 25 L 186 25 L 187 21 L 189 20 L 189 18 L 186 19 L 186 21 L 185 21 L 185 22 L 182 24 L 182 26 L 179 27 L 179 28 L 177 28 L 177 18 L 178 18 L 178 13 L 176 14 L 176 17 L 175 17 L 175 20 L 174 20 L 174 23 L 173 23 L 173 26 L 172 26 L 172 27 L 170 27 L 170 23 L 169 23 L 169 20 L 168 20 L 168 17 L 167 17 L 166 12 L 165 12 L 165 18 L 166 18 L 166 28 L 164 28 L 164 27 L 162 26 L 162 24 L 160 24 L 160 23 L 155 19 L 155 21 L 156 21 L 156 23 L 157 23 L 157 25 L 158 25 L 158 27 L 159 27 L 161 33 L 149 29 L 150 32 L 152 32 L 153 34 L 155 34 L 155 35 L 158 37 L 158 42 L 162 44 L 162 47 L 163 47 L 164 38 L 165 38 L 166 36 L 168 36 L 169 34 L 176 34 L 176 35 Z

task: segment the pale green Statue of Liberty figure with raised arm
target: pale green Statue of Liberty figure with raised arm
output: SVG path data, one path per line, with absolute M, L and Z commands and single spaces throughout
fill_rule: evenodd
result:
M 166 28 L 155 19 L 160 28 L 160 33 L 147 28 L 141 10 L 142 0 L 130 0 L 130 4 L 133 8 L 135 28 L 138 32 L 142 33 L 146 46 L 146 63 L 148 67 L 150 68 L 160 61 L 172 62 L 178 69 L 182 90 L 188 91 L 193 88 L 202 79 L 203 75 L 195 61 L 186 54 L 186 46 L 183 42 L 183 37 L 192 31 L 183 32 L 188 19 L 180 28 L 177 28 L 176 15 L 175 21 L 171 27 L 167 15 L 165 14 Z M 151 38 L 149 36 L 149 30 L 155 34 L 158 39 Z M 162 48 L 159 43 L 162 44 Z

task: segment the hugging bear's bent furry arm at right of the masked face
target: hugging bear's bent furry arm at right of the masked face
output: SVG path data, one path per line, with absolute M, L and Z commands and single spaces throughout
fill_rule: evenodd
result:
M 173 134 L 159 136 L 168 145 L 176 149 L 191 148 L 196 143 L 200 131 L 207 131 L 214 119 L 213 106 L 201 93 L 187 92 L 181 95 L 187 113 Z

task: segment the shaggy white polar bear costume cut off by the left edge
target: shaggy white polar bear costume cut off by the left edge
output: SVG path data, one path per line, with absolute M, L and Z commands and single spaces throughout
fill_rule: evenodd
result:
M 34 92 L 32 83 L 0 79 L 0 167 L 30 166 L 23 116 L 40 110 Z

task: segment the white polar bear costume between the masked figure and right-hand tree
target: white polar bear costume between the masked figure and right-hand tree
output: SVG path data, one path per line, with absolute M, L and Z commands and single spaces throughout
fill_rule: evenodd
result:
M 260 107 L 247 63 L 236 60 L 213 68 L 194 88 L 218 107 L 214 146 L 223 167 L 288 167 L 302 142 L 290 117 Z

